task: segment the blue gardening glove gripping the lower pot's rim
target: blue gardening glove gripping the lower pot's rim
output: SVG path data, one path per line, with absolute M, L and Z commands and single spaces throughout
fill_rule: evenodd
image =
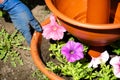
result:
M 30 26 L 38 32 L 42 31 L 39 22 L 34 18 L 32 12 L 20 0 L 4 0 L 0 4 L 0 8 L 9 13 L 15 28 L 23 34 L 29 45 L 32 38 Z

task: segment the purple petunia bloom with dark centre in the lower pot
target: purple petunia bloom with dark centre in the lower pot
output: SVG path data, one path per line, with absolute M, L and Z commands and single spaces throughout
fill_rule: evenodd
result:
M 62 48 L 61 53 L 66 57 L 68 62 L 75 62 L 84 58 L 84 47 L 81 43 L 68 41 Z

